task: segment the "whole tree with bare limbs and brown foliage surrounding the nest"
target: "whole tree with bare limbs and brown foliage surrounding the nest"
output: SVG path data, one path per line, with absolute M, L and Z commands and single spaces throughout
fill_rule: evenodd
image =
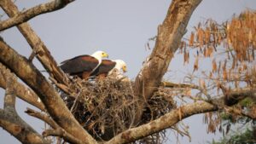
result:
M 27 9 L 26 11 L 19 14 L 17 9 L 15 9 L 15 5 L 11 1 L 2 1 L 2 9 L 4 9 L 5 12 L 13 18 L 2 21 L 0 29 L 4 30 L 10 26 L 19 25 L 22 23 L 18 26 L 18 28 L 28 43 L 30 43 L 33 50 L 32 55 L 30 55 L 27 60 L 26 58 L 17 54 L 14 49 L 10 48 L 9 45 L 4 43 L 2 40 L 0 61 L 4 66 L 7 66 L 12 72 L 15 73 L 16 76 L 18 76 L 27 84 L 27 86 L 31 88 L 28 89 L 24 87 L 24 85 L 14 81 L 15 84 L 19 85 L 15 87 L 15 90 L 13 90 L 16 91 L 14 95 L 20 96 L 20 98 L 23 100 L 38 107 L 42 111 L 47 111 L 49 113 L 50 118 L 43 113 L 34 112 L 32 110 L 27 111 L 27 113 L 30 115 L 43 119 L 47 124 L 51 126 L 51 128 L 54 129 L 45 130 L 44 136 L 57 135 L 62 137 L 65 141 L 70 141 L 73 143 L 96 143 L 96 140 L 90 134 L 88 134 L 87 131 L 83 130 L 80 124 L 73 118 L 72 113 L 67 110 L 65 103 L 61 100 L 60 93 L 58 93 L 44 78 L 41 72 L 39 72 L 37 68 L 33 66 L 32 59 L 34 56 L 37 56 L 40 62 L 43 64 L 44 68 L 49 72 L 50 79 L 52 82 L 54 82 L 55 86 L 70 96 L 77 95 L 76 91 L 71 89 L 72 84 L 68 82 L 69 80 L 67 76 L 63 74 L 63 72 L 61 72 L 57 67 L 55 60 L 50 55 L 44 43 L 26 23 L 23 23 L 37 14 L 49 12 L 53 9 L 60 9 L 70 2 L 71 1 L 54 1 L 45 5 L 40 5 L 33 9 Z M 124 143 L 129 141 L 136 141 L 147 135 L 152 135 L 153 133 L 159 132 L 160 130 L 165 130 L 166 128 L 177 124 L 178 121 L 182 120 L 183 118 L 187 118 L 190 115 L 201 112 L 223 111 L 226 109 L 224 102 L 226 105 L 232 106 L 238 102 L 237 99 L 241 100 L 247 96 L 252 98 L 255 97 L 255 79 L 253 78 L 253 75 L 255 75 L 253 67 L 255 42 L 253 40 L 255 38 L 253 37 L 253 31 L 250 31 L 255 29 L 255 18 L 253 18 L 254 13 L 247 12 L 241 15 L 240 19 L 234 19 L 232 21 L 235 21 L 234 24 L 230 22 L 226 26 L 218 26 L 216 23 L 208 21 L 204 25 L 205 27 L 199 25 L 195 28 L 195 34 L 191 34 L 189 42 L 182 41 L 182 43 L 179 43 L 183 37 L 183 34 L 185 33 L 185 28 L 188 24 L 190 15 L 200 2 L 201 1 L 172 2 L 168 10 L 168 14 L 166 15 L 166 19 L 158 28 L 158 36 L 156 37 L 154 50 L 148 59 L 144 61 L 143 68 L 135 80 L 134 96 L 136 96 L 136 98 L 139 100 L 137 102 L 139 105 L 137 106 L 140 107 L 138 107 L 137 112 L 134 113 L 134 122 L 132 123 L 133 125 L 131 125 L 134 128 L 125 130 L 119 135 L 114 136 L 113 139 L 108 141 L 108 143 Z M 247 21 L 247 18 L 249 18 L 249 22 Z M 241 29 L 240 33 L 236 31 L 238 28 Z M 246 35 L 247 37 L 243 35 L 243 32 L 248 33 L 248 35 Z M 239 39 L 235 39 L 237 36 L 240 36 Z M 225 49 L 227 54 L 235 55 L 232 56 L 231 59 L 233 63 L 235 63 L 235 66 L 233 67 L 230 65 L 233 72 L 227 72 L 227 67 L 229 67 L 228 60 L 217 63 L 215 62 L 216 59 L 213 59 L 212 74 L 211 72 L 209 74 L 202 73 L 203 75 L 201 76 L 204 77 L 196 78 L 195 73 L 192 73 L 192 75 L 189 75 L 188 77 L 190 80 L 189 84 L 173 84 L 169 82 L 161 82 L 162 77 L 166 73 L 167 67 L 172 60 L 174 53 L 177 52 L 178 46 L 180 46 L 181 51 L 183 51 L 185 62 L 189 60 L 188 58 L 190 54 L 187 51 L 189 48 L 185 45 L 200 48 L 197 50 L 198 52 L 195 52 L 194 71 L 196 72 L 200 67 L 200 56 L 211 56 L 213 54 L 213 49 L 216 49 L 215 47 L 221 43 L 228 43 L 229 46 L 232 47 L 232 49 L 230 49 L 230 47 L 224 48 L 228 49 Z M 216 49 L 216 51 L 219 50 Z M 240 65 L 240 63 L 242 63 L 242 65 Z M 13 85 L 8 86 L 7 84 L 6 79 L 9 79 L 9 77 L 4 75 L 4 72 L 6 71 L 4 66 L 2 68 L 2 78 L 4 78 L 1 81 L 2 87 L 5 89 L 14 89 L 11 88 L 14 87 Z M 231 77 L 232 73 L 234 74 L 233 77 Z M 205 79 L 209 79 L 210 81 L 207 82 Z M 247 87 L 244 87 L 241 82 L 246 82 Z M 186 98 L 188 97 L 195 102 L 177 105 L 177 107 L 173 107 L 172 110 L 170 109 L 170 112 L 166 112 L 166 114 L 164 113 L 164 116 L 155 118 L 155 120 L 151 119 L 151 122 L 145 124 L 143 123 L 145 121 L 142 120 L 144 118 L 143 114 L 145 113 L 144 109 L 148 105 L 148 101 L 150 101 L 152 96 L 154 96 L 154 94 L 157 92 L 160 92 L 160 86 L 161 88 L 169 89 L 172 92 L 169 97 L 181 96 L 182 100 L 184 100 L 185 96 Z M 228 89 L 227 87 L 230 87 L 231 89 Z M 193 92 L 192 96 L 191 89 L 197 89 L 199 92 L 196 92 L 195 95 Z M 217 95 L 210 89 L 213 89 L 214 91 L 222 89 L 222 94 Z M 28 90 L 31 91 L 29 95 L 32 96 L 27 96 Z M 32 90 L 34 92 L 32 92 Z M 6 92 L 5 96 L 5 103 L 8 104 L 9 96 L 7 95 L 9 95 L 8 91 Z M 214 95 L 216 96 L 214 97 Z M 38 96 L 44 103 L 44 106 L 42 106 L 41 102 L 38 102 Z M 11 107 L 14 106 L 11 105 Z M 10 117 L 4 117 L 7 115 L 6 113 L 12 111 L 6 111 L 8 110 L 6 110 L 4 107 L 2 117 L 3 121 L 13 122 L 12 119 L 9 119 Z M 212 116 L 207 118 L 212 118 Z M 63 119 L 65 119 L 65 121 L 63 121 Z M 29 137 L 28 134 L 26 135 L 26 133 L 23 132 L 23 128 L 26 126 L 22 126 L 20 123 L 18 123 L 20 124 L 18 126 L 12 126 L 10 123 L 3 122 L 1 124 L 3 124 L 2 126 L 4 129 L 8 130 L 17 138 L 17 134 L 20 134 L 20 141 L 24 141 L 24 137 Z M 210 130 L 213 130 L 214 127 L 216 127 L 216 123 L 214 124 L 215 125 L 213 125 L 213 127 L 211 127 L 212 129 Z M 181 131 L 180 133 L 183 134 Z M 36 135 L 38 134 L 36 133 Z M 108 139 L 109 138 L 112 137 L 108 137 Z M 36 140 L 29 140 L 28 142 L 32 141 L 35 142 Z M 38 135 L 37 141 L 39 143 L 48 142 L 45 141 L 40 135 Z

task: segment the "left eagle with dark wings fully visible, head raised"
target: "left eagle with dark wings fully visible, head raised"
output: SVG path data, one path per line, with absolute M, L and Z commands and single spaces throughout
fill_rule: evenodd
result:
M 101 65 L 104 57 L 108 57 L 108 54 L 103 51 L 96 51 L 92 55 L 79 55 L 61 62 L 61 69 L 71 76 L 87 79 Z

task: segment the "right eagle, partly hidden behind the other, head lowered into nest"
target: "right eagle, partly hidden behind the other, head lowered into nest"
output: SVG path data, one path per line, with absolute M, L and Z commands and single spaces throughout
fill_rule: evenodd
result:
M 101 65 L 90 75 L 102 78 L 113 74 L 113 72 L 120 73 L 121 69 L 123 72 L 127 71 L 127 66 L 124 60 L 102 60 Z

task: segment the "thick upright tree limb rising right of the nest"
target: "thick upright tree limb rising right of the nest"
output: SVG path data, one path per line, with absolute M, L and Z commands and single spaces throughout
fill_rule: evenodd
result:
M 185 33 L 189 18 L 201 0 L 174 0 L 168 9 L 166 19 L 158 26 L 155 47 L 152 54 L 144 61 L 143 68 L 135 80 L 135 95 L 148 99 L 159 87 L 160 81 L 176 52 Z M 136 122 L 142 116 L 143 104 L 137 112 Z

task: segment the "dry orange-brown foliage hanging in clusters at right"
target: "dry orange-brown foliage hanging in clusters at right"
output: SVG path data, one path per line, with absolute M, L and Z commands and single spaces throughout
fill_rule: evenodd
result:
M 208 58 L 212 60 L 212 70 L 207 70 L 210 74 L 204 79 L 233 88 L 244 83 L 255 87 L 255 50 L 256 12 L 252 10 L 223 24 L 214 20 L 199 23 L 180 46 L 184 64 L 189 64 L 189 55 L 196 55 L 193 73 L 206 71 L 204 65 L 199 64 Z

